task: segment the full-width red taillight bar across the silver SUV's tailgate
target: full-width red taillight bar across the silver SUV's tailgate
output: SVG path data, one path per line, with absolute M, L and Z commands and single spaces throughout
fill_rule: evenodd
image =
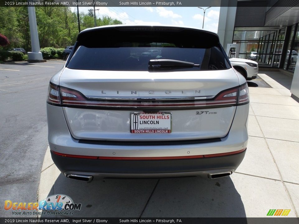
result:
M 239 99 L 238 99 L 239 97 Z M 114 108 L 186 108 L 186 107 L 218 107 L 218 106 L 235 106 L 249 102 L 248 85 L 220 92 L 214 99 L 194 100 L 193 97 L 175 100 L 154 100 L 144 104 L 141 100 L 113 100 L 113 99 L 88 99 L 82 93 L 66 87 L 56 86 L 52 83 L 49 85 L 47 102 L 52 105 L 62 106 L 92 106 L 92 107 L 114 107 Z

